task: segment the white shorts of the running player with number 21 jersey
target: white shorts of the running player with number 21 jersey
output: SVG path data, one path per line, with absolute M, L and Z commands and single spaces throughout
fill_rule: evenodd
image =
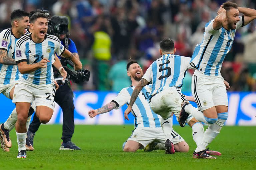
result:
M 56 85 L 54 83 L 34 85 L 20 80 L 19 84 L 15 86 L 12 102 L 32 103 L 35 100 L 36 106 L 47 106 L 54 110 L 55 91 Z

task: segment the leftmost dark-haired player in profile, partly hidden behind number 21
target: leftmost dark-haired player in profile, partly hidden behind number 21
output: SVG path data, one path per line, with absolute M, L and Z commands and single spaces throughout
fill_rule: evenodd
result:
M 23 10 L 14 10 L 10 19 L 12 27 L 0 33 L 0 93 L 12 100 L 14 85 L 19 79 L 19 70 L 14 56 L 15 43 L 26 33 L 29 26 L 28 13 Z M 1 148 L 9 151 L 11 141 L 9 132 L 4 130 L 3 124 L 0 125 L 0 141 Z

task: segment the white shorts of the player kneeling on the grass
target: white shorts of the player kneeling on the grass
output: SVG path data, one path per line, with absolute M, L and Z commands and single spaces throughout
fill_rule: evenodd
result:
M 173 129 L 171 134 L 172 134 L 173 144 L 177 144 L 179 142 L 184 141 L 184 139 Z M 146 147 L 149 143 L 153 141 L 165 143 L 164 132 L 162 128 L 149 128 L 149 127 L 135 128 L 135 130 L 132 131 L 131 136 L 127 140 L 136 141 L 142 144 L 144 147 Z M 140 148 L 140 149 L 143 149 L 143 148 Z

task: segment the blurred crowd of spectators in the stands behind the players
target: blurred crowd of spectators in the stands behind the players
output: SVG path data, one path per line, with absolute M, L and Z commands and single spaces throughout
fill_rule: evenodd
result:
M 73 84 L 74 90 L 120 91 L 131 84 L 126 76 L 129 60 L 140 62 L 145 72 L 159 58 L 159 41 L 170 37 L 176 54 L 190 56 L 203 38 L 205 24 L 214 19 L 224 0 L 1 0 L 0 29 L 10 27 L 14 9 L 49 10 L 67 16 L 70 38 L 75 42 L 90 81 Z M 255 0 L 235 0 L 255 9 Z M 221 74 L 229 91 L 256 91 L 255 23 L 236 32 Z M 182 91 L 191 91 L 193 70 Z

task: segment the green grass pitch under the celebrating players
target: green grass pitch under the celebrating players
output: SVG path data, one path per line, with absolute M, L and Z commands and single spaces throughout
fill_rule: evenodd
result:
M 256 127 L 223 127 L 221 133 L 210 144 L 222 156 L 216 160 L 193 159 L 196 145 L 192 130 L 186 126 L 174 129 L 190 146 L 188 153 L 166 155 L 164 150 L 124 153 L 122 144 L 130 136 L 133 126 L 78 125 L 72 141 L 81 147 L 80 151 L 60 151 L 61 125 L 45 125 L 39 128 L 34 139 L 33 152 L 27 152 L 27 159 L 18 159 L 15 131 L 10 133 L 10 152 L 0 152 L 0 169 L 256 169 Z

